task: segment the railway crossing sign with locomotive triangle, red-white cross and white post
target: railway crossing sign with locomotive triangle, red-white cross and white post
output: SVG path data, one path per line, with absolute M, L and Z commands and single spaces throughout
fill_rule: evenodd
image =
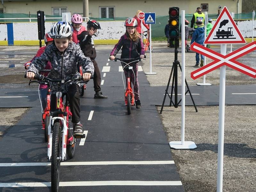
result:
M 226 26 L 226 27 L 223 27 Z M 222 28 L 223 27 L 223 28 Z M 233 30 L 235 29 L 235 30 Z M 216 39 L 216 40 L 215 40 Z M 219 133 L 218 133 L 218 170 L 217 170 L 217 192 L 222 192 L 223 183 L 223 154 L 224 154 L 224 120 L 225 120 L 225 84 L 226 84 L 226 65 L 236 69 L 253 78 L 256 77 L 256 70 L 248 67 L 238 61 L 239 57 L 256 50 L 256 42 L 249 43 L 243 47 L 227 53 L 227 44 L 245 43 L 245 39 L 237 28 L 234 19 L 228 12 L 227 7 L 224 7 L 216 23 L 214 24 L 210 34 L 207 36 L 204 43 L 221 44 L 220 53 L 208 49 L 200 44 L 193 43 L 191 50 L 198 53 L 203 53 L 211 58 L 212 61 L 193 72 L 191 78 L 196 79 L 204 74 L 209 73 L 217 68 L 220 68 L 220 100 L 219 100 Z

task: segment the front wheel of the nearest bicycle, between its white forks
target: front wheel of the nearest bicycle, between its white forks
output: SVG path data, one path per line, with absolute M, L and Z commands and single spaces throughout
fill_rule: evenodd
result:
M 60 122 L 55 122 L 52 133 L 52 191 L 57 192 L 60 182 L 60 161 L 61 161 L 61 131 Z

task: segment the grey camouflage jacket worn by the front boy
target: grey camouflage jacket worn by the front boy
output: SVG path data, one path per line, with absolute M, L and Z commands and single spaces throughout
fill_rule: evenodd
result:
M 38 73 L 38 70 L 45 68 L 47 62 L 52 63 L 51 72 L 48 77 L 51 79 L 67 79 L 77 72 L 77 64 L 82 65 L 87 73 L 94 73 L 94 67 L 91 59 L 85 57 L 80 46 L 74 42 L 69 43 L 65 52 L 60 52 L 55 44 L 46 47 L 44 53 L 40 57 L 36 57 L 29 67 L 28 71 Z

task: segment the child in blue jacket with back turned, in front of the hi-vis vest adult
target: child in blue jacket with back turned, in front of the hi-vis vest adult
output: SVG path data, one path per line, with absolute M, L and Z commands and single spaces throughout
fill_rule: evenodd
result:
M 203 20 L 202 19 L 197 19 L 196 20 L 196 26 L 197 28 L 195 29 L 193 35 L 192 35 L 192 40 L 191 43 L 198 43 L 200 45 L 204 45 L 204 26 L 203 26 Z M 201 54 L 201 63 L 200 67 L 204 65 L 204 56 Z M 195 67 L 199 66 L 199 53 L 196 53 L 196 65 Z

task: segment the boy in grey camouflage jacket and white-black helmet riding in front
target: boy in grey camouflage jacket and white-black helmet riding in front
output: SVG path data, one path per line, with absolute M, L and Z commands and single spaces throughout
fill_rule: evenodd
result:
M 55 23 L 50 31 L 54 42 L 47 46 L 44 53 L 33 60 L 27 72 L 27 78 L 33 79 L 38 70 L 44 69 L 47 62 L 52 63 L 51 72 L 48 77 L 51 79 L 66 79 L 77 73 L 77 63 L 84 67 L 83 80 L 89 81 L 93 75 L 94 67 L 90 58 L 85 57 L 80 47 L 72 42 L 72 26 L 66 21 Z M 56 86 L 56 85 L 55 85 Z M 83 135 L 83 125 L 80 123 L 80 99 L 77 84 L 68 84 L 68 97 L 72 112 L 72 123 L 74 137 Z M 55 87 L 56 89 L 56 87 Z M 56 94 L 52 90 L 51 111 L 56 110 Z

